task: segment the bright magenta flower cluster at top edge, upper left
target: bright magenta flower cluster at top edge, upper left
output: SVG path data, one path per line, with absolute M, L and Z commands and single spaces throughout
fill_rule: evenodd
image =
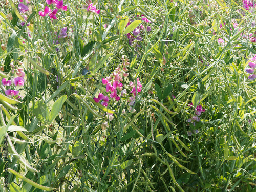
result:
M 56 17 L 56 14 L 58 12 L 58 9 L 61 9 L 62 11 L 67 11 L 67 5 L 63 5 L 63 0 L 60 0 L 60 1 L 57 1 L 57 0 L 46 0 L 46 3 L 48 5 L 56 5 L 56 8 L 57 9 L 54 9 L 52 12 L 51 12 L 51 9 L 49 7 L 45 7 L 45 10 L 44 12 L 42 11 L 39 11 L 38 14 L 42 17 L 45 17 L 47 15 L 50 16 L 50 19 L 53 18 L 53 19 L 57 19 Z

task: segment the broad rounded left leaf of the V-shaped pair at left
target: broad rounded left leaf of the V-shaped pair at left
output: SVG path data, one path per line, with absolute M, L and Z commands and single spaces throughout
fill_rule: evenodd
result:
M 37 101 L 34 106 L 34 113 L 38 121 L 46 124 L 49 122 L 50 112 L 48 106 L 41 100 Z

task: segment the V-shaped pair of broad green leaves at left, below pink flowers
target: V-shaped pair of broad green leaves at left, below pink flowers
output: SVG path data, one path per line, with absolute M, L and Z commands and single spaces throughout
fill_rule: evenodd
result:
M 54 102 L 52 105 L 51 113 L 48 106 L 43 101 L 37 101 L 35 103 L 34 112 L 38 121 L 44 124 L 51 124 L 60 112 L 61 107 L 66 99 L 67 95 L 63 95 L 56 102 Z

